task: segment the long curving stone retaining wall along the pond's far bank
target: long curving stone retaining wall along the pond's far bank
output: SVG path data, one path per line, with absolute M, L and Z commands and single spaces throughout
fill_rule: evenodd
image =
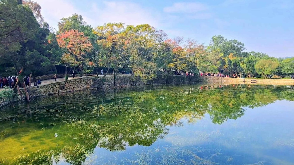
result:
M 271 84 L 271 85 L 294 85 L 294 80 L 291 79 L 238 79 L 227 77 L 213 77 L 213 76 L 182 76 L 182 75 L 157 75 L 157 79 L 153 81 L 144 82 L 141 79 L 131 80 L 131 75 L 118 75 L 116 79 L 116 86 L 134 86 L 134 85 L 151 85 L 151 84 L 170 84 L 181 83 L 187 84 L 190 82 L 199 82 L 203 84 Z M 253 82 L 253 83 L 252 83 Z M 50 94 L 74 92 L 88 89 L 106 89 L 113 88 L 114 76 L 107 75 L 105 79 L 102 76 L 81 77 L 78 79 L 68 80 L 64 86 L 64 82 L 55 82 L 52 84 L 39 85 L 27 88 L 29 97 L 34 98 L 38 96 L 45 96 Z M 63 87 L 64 86 L 64 87 Z M 25 98 L 24 89 L 21 89 L 22 96 Z M 20 100 L 20 98 L 10 99 L 11 101 Z M 10 101 L 10 102 L 11 102 Z M 7 99 L 0 100 L 0 107 L 9 103 Z

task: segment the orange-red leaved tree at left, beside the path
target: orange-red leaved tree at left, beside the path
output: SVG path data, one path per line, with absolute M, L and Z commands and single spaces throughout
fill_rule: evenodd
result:
M 88 61 L 86 53 L 91 52 L 93 46 L 88 40 L 88 37 L 84 36 L 83 32 L 78 30 L 69 30 L 56 36 L 58 45 L 64 48 L 64 54 L 61 57 L 61 62 L 67 67 L 78 67 L 83 73 L 83 69 Z M 73 61 L 73 59 L 75 61 Z M 68 64 L 69 66 L 67 66 Z M 66 75 L 67 75 L 66 71 Z M 67 77 L 67 76 L 66 76 Z

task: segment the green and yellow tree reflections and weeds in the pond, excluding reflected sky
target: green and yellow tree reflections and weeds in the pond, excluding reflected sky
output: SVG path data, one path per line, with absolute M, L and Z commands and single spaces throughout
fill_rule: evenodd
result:
M 2 112 L 0 161 L 50 163 L 54 154 L 56 162 L 62 158 L 81 164 L 97 146 L 110 151 L 126 150 L 126 144 L 150 146 L 167 135 L 169 126 L 181 127 L 183 119 L 195 123 L 208 114 L 213 123 L 222 124 L 244 115 L 244 107 L 293 101 L 293 90 L 282 86 L 153 86 L 113 92 L 38 98 Z

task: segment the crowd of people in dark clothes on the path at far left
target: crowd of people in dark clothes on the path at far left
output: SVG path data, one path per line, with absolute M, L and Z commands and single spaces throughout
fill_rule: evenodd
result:
M 14 88 L 16 82 L 18 80 L 18 76 L 8 76 L 7 77 L 1 77 L 0 76 L 0 87 L 4 88 L 4 87 L 9 87 L 9 88 Z M 24 82 L 26 86 L 29 86 L 30 83 L 30 76 L 26 77 L 24 76 Z M 40 80 L 37 81 L 37 85 L 41 84 L 42 82 Z M 19 83 L 19 87 L 23 87 L 22 83 Z

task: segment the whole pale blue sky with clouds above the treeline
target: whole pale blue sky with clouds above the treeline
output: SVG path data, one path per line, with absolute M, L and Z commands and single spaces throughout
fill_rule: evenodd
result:
M 57 29 L 62 17 L 82 15 L 92 27 L 107 22 L 148 23 L 170 38 L 209 44 L 213 35 L 237 39 L 246 51 L 294 56 L 293 0 L 35 0 Z

